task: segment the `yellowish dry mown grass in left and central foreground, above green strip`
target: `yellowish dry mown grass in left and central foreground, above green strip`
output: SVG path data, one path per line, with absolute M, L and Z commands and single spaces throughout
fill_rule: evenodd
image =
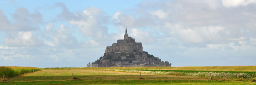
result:
M 51 80 L 72 80 L 72 73 L 81 80 L 140 80 L 139 73 L 126 73 L 115 71 L 96 70 L 42 70 L 34 73 L 23 74 L 20 77 L 9 79 L 17 81 L 51 81 Z M 201 77 L 173 76 L 173 75 L 153 75 L 141 74 L 145 80 L 207 80 Z

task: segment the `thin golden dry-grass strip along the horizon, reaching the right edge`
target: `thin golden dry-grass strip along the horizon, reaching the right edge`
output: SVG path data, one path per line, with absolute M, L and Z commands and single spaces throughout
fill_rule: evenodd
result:
M 187 71 L 250 71 L 256 72 L 256 66 L 186 66 L 186 67 L 101 67 L 101 68 L 44 68 L 44 69 L 79 69 L 79 70 L 187 70 Z

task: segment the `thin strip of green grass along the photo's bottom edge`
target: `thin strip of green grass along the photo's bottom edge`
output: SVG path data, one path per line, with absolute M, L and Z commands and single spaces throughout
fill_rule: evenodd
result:
M 0 82 L 1 85 L 256 85 L 253 82 L 209 80 L 67 80 Z

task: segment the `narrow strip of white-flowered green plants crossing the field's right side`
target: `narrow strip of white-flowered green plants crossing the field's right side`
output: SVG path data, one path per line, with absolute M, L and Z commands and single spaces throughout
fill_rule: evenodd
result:
M 167 71 L 167 70 L 103 70 L 103 71 L 120 71 L 120 72 L 132 72 L 132 73 L 144 73 L 144 74 L 161 74 L 161 75 L 182 75 L 182 76 L 197 76 L 197 77 L 226 77 L 226 78 L 253 78 L 256 74 L 247 74 L 243 72 L 221 72 L 221 71 Z

